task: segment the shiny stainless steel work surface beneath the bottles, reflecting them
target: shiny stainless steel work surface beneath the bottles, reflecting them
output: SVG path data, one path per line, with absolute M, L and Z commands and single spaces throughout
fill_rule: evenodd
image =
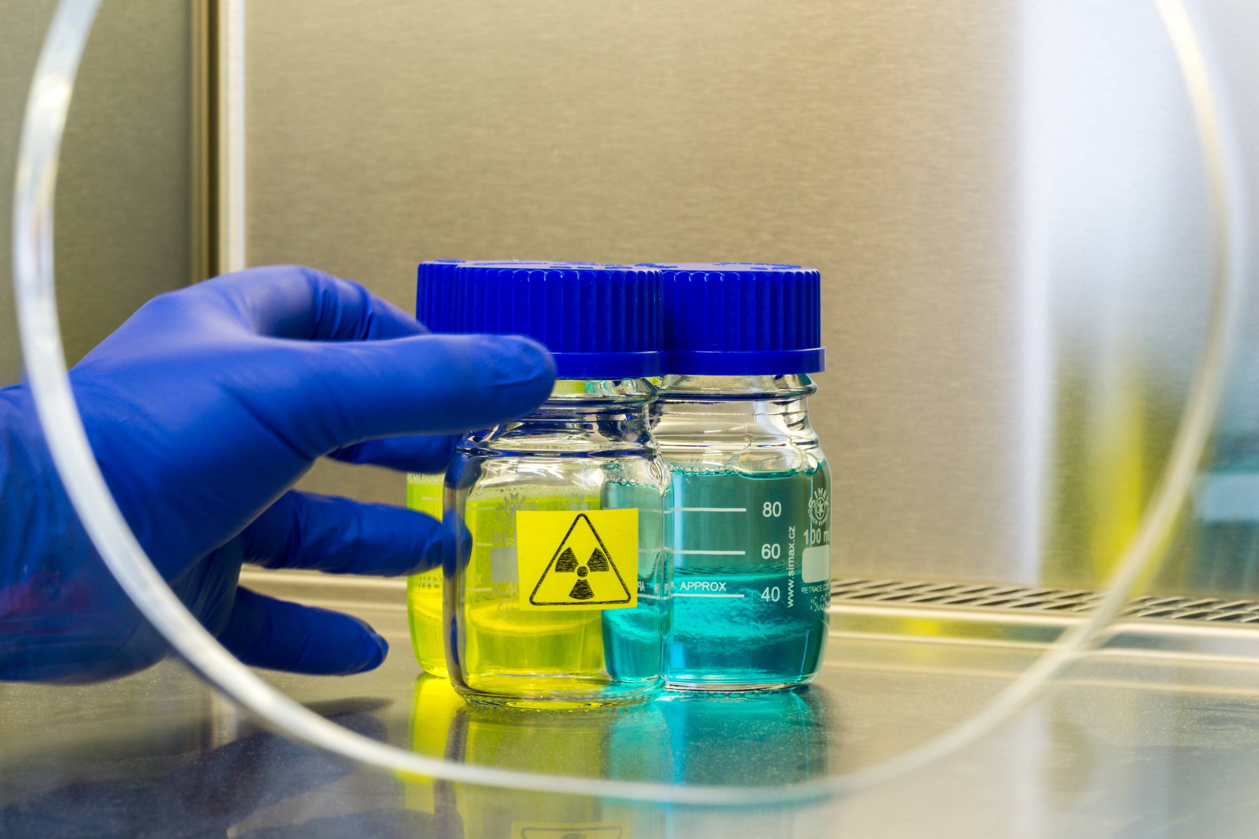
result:
M 281 689 L 403 748 L 553 775 L 767 787 L 836 776 L 976 713 L 1044 649 L 1035 638 L 1016 643 L 1031 635 L 1013 621 L 990 620 L 963 640 L 939 610 L 915 618 L 841 599 L 826 667 L 801 692 L 504 711 L 467 706 L 419 675 L 398 581 L 251 577 L 271 594 L 351 610 L 392 644 L 364 675 L 267 674 Z M 886 614 L 872 619 L 880 608 Z M 1162 625 L 1168 636 L 1177 629 Z M 1245 649 L 1253 630 L 1219 631 L 1240 633 L 1233 649 Z M 1027 712 L 912 775 L 827 801 L 735 809 L 356 769 L 261 731 L 176 662 L 89 687 L 4 684 L 0 834 L 1250 836 L 1259 664 L 1160 645 L 1182 652 L 1105 650 Z

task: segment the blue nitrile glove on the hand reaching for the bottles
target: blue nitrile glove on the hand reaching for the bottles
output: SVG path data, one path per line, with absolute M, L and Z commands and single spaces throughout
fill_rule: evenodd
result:
M 254 268 L 145 304 L 71 371 L 101 470 L 179 597 L 247 664 L 346 674 L 363 621 L 238 589 L 240 565 L 399 575 L 441 562 L 418 512 L 285 492 L 320 457 L 433 472 L 521 416 L 555 366 L 517 337 L 428 335 L 361 286 Z M 385 439 L 380 439 L 385 438 Z M 25 386 L 0 390 L 0 679 L 89 682 L 167 653 L 79 523 Z

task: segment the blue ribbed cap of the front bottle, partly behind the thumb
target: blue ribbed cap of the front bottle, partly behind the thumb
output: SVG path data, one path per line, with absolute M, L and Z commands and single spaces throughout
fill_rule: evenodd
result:
M 465 262 L 453 272 L 426 272 L 421 265 L 415 298 L 417 317 L 441 308 L 449 318 L 434 331 L 540 341 L 555 356 L 560 379 L 641 379 L 662 370 L 661 273 L 652 267 Z

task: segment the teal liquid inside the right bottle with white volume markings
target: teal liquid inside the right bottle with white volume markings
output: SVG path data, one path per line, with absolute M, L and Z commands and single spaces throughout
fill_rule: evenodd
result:
M 675 468 L 671 687 L 744 691 L 805 684 L 826 650 L 831 599 L 830 470 Z M 816 548 L 806 562 L 805 551 Z M 612 662 L 651 626 L 604 624 Z M 609 664 L 611 667 L 611 664 Z

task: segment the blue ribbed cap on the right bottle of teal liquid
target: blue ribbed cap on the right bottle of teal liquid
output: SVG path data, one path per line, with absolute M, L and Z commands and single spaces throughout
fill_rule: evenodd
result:
M 774 263 L 656 264 L 665 281 L 665 369 L 696 376 L 826 369 L 822 277 Z

